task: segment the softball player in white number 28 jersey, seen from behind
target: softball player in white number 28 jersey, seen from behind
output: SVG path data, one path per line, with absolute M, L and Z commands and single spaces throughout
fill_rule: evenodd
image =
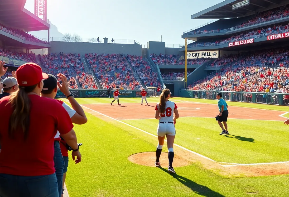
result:
M 160 102 L 155 107 L 155 119 L 159 120 L 158 125 L 158 140 L 159 144 L 156 151 L 157 159 L 155 160 L 155 166 L 160 166 L 160 156 L 162 153 L 162 147 L 164 145 L 164 138 L 166 136 L 168 143 L 168 172 L 175 173 L 173 168 L 174 160 L 174 141 L 176 135 L 175 124 L 176 120 L 179 118 L 179 112 L 177 110 L 177 105 L 169 101 L 171 98 L 171 91 L 169 89 L 164 89 L 160 95 Z M 175 113 L 175 117 L 173 116 Z

